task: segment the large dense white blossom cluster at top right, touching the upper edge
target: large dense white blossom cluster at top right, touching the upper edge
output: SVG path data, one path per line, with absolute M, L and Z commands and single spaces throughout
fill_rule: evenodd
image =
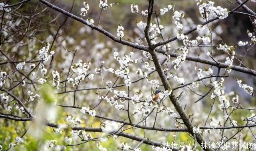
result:
M 220 6 L 215 7 L 214 2 L 207 1 L 205 3 L 197 3 L 199 6 L 199 13 L 202 16 L 203 19 L 208 20 L 208 15 L 211 15 L 212 17 L 219 17 L 219 19 L 224 19 L 228 17 L 228 9 L 222 8 Z

